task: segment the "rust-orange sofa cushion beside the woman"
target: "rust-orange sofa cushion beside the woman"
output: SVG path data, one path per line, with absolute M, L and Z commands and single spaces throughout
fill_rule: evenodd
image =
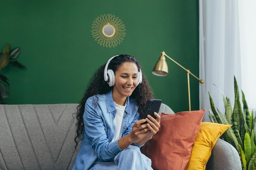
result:
M 161 127 L 141 148 L 155 170 L 184 170 L 205 109 L 161 115 Z

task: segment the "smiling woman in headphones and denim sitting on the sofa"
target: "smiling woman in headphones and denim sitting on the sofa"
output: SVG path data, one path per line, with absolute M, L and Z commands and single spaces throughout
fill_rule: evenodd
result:
M 140 119 L 150 98 L 153 92 L 134 57 L 116 55 L 101 66 L 76 113 L 75 141 L 82 141 L 72 170 L 153 170 L 140 152 L 160 127 L 157 113 L 157 119 Z

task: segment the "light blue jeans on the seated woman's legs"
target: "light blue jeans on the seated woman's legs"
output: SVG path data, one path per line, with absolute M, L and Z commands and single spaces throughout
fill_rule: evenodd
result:
M 128 146 L 117 156 L 113 162 L 96 161 L 89 170 L 153 170 L 151 160 L 140 152 L 137 146 Z

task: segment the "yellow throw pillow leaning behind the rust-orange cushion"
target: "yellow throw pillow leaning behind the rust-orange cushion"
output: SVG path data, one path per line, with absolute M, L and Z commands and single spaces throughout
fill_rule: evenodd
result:
M 191 157 L 185 170 L 205 170 L 217 139 L 232 125 L 202 122 L 192 145 Z

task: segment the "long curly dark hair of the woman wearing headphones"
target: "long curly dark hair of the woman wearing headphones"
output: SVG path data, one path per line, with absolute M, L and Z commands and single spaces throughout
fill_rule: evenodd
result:
M 135 57 L 132 57 L 130 55 L 118 55 L 117 57 L 114 57 L 109 65 L 108 69 L 112 69 L 115 73 L 117 69 L 122 66 L 124 62 L 133 62 L 137 65 L 138 70 L 141 68 L 139 66 L 138 61 L 135 59 Z M 76 123 L 76 137 L 75 142 L 76 146 L 78 146 L 79 139 L 83 137 L 83 113 L 85 110 L 85 102 L 86 100 L 97 94 L 106 94 L 108 93 L 113 87 L 109 86 L 107 82 L 104 81 L 104 68 L 106 64 L 103 64 L 99 67 L 99 69 L 94 73 L 92 79 L 90 80 L 90 83 L 88 84 L 88 87 L 85 91 L 85 94 L 83 96 L 83 99 L 81 100 L 80 104 L 77 106 L 77 112 L 74 113 L 74 117 L 77 119 Z M 142 74 L 142 73 L 141 73 Z M 149 86 L 146 77 L 142 74 L 142 82 L 135 88 L 135 90 L 132 92 L 131 98 L 135 98 L 138 105 L 139 105 L 139 113 L 144 113 L 144 109 L 146 107 L 146 102 L 148 99 L 153 98 L 153 91 L 151 87 Z

